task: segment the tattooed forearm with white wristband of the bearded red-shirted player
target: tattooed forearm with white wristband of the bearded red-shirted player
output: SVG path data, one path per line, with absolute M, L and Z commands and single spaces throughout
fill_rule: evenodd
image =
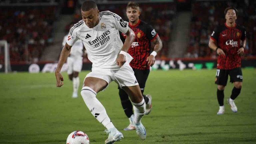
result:
M 155 64 L 155 61 L 156 61 L 155 56 L 163 47 L 163 44 L 162 44 L 162 41 L 161 41 L 159 35 L 157 35 L 156 39 L 153 41 L 153 44 L 155 44 L 154 50 L 150 54 L 150 56 L 147 57 L 147 60 L 146 60 L 148 62 L 149 66 L 152 66 Z

